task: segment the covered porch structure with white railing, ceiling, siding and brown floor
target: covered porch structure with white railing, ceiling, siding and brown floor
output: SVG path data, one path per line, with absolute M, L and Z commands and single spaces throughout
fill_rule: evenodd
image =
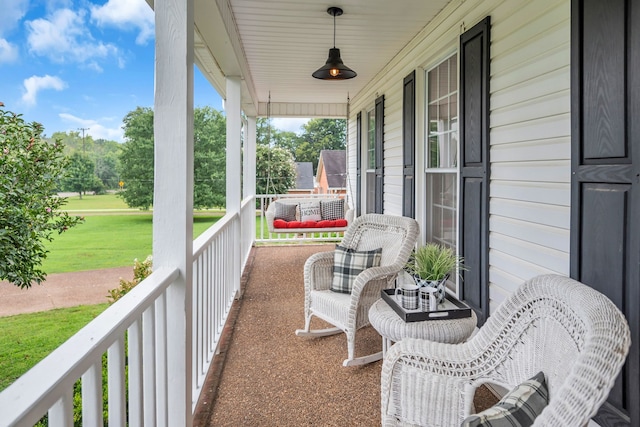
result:
M 346 118 L 346 197 L 356 216 L 414 217 L 419 243 L 455 247 L 470 269 L 449 290 L 472 305 L 480 323 L 539 274 L 571 276 L 611 298 L 627 316 L 633 344 L 598 422 L 640 422 L 637 2 L 149 3 L 156 16 L 154 272 L 3 391 L 0 424 L 32 425 L 48 414 L 50 426 L 72 425 L 80 379 L 85 425 L 108 419 L 113 426 L 191 426 L 202 422 L 204 402 L 211 404 L 205 397 L 216 390 L 218 401 L 240 416 L 238 402 L 256 398 L 246 404 L 256 411 L 254 424 L 264 407 L 284 425 L 297 410 L 314 407 L 314 396 L 305 394 L 320 391 L 314 380 L 347 387 L 360 376 L 367 383 L 354 393 L 362 402 L 328 387 L 318 396 L 326 399 L 321 413 L 300 417 L 341 421 L 340 401 L 379 423 L 379 362 L 342 368 L 344 337 L 298 339 L 293 330 L 301 314 L 291 323 L 279 318 L 279 327 L 261 322 L 261 304 L 281 290 L 287 298 L 301 291 L 300 259 L 286 267 L 291 274 L 278 272 L 242 295 L 243 271 L 259 276 L 257 263 L 246 266 L 255 261 L 256 120 L 268 115 Z M 311 77 L 333 47 L 331 6 L 344 9 L 335 21 L 335 47 L 358 73 L 353 79 Z M 195 242 L 194 65 L 225 99 L 227 118 L 226 216 Z M 287 259 L 286 248 L 268 250 Z M 290 291 L 279 287 L 285 277 Z M 238 298 L 239 313 L 246 312 L 236 332 L 259 335 L 231 344 L 222 381 L 209 387 Z M 302 305 L 291 303 L 287 314 L 293 310 Z M 254 389 L 227 388 L 227 368 L 239 364 L 234 379 L 250 382 L 249 368 L 282 351 L 278 334 L 290 334 L 294 350 L 257 374 L 284 385 L 257 396 Z M 372 334 L 370 345 L 379 348 L 378 340 Z M 314 370 L 319 361 L 335 370 Z M 273 415 L 278 407 L 282 418 Z M 232 412 L 222 409 L 223 418 L 225 411 Z

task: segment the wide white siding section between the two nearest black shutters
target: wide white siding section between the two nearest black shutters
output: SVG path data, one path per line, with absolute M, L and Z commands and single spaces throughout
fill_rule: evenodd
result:
M 570 2 L 501 6 L 491 28 L 490 311 L 532 276 L 569 274 Z

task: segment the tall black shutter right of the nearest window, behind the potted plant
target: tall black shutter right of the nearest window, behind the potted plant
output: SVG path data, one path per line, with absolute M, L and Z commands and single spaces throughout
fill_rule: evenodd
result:
M 460 36 L 459 244 L 462 298 L 478 324 L 489 316 L 489 29 L 487 17 Z

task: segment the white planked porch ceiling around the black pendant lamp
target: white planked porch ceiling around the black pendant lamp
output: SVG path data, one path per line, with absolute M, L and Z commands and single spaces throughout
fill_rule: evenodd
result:
M 195 60 L 225 97 L 225 77 L 243 81 L 243 109 L 271 115 L 344 117 L 351 98 L 451 0 L 195 0 Z M 358 76 L 323 81 L 311 73 L 336 47 Z

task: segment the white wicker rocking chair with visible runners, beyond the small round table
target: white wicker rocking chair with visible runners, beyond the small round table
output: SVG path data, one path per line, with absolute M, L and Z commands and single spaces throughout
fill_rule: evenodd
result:
M 382 358 L 382 352 L 355 358 L 356 331 L 369 324 L 369 308 L 380 298 L 382 289 L 392 288 L 397 273 L 404 267 L 418 238 L 418 223 L 401 216 L 365 214 L 347 228 L 341 246 L 358 251 L 382 248 L 380 266 L 360 273 L 350 294 L 332 292 L 334 252 L 313 254 L 304 266 L 304 329 L 298 336 L 322 337 L 344 332 L 348 358 L 343 366 L 356 366 Z M 335 327 L 310 329 L 317 316 Z

